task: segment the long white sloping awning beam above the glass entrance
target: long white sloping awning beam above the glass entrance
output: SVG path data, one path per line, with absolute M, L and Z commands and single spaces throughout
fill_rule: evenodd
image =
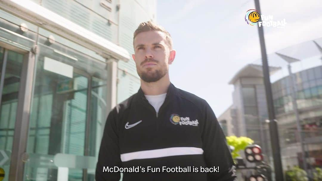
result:
M 66 18 L 53 13 L 31 0 L 0 0 L 0 8 L 30 23 L 74 41 L 105 58 L 128 61 L 130 55 L 124 48 L 90 32 Z

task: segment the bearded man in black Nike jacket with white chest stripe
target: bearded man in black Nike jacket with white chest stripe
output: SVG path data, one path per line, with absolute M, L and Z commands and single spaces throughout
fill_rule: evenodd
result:
M 237 180 L 209 104 L 170 83 L 168 69 L 175 59 L 170 34 L 152 22 L 141 23 L 133 45 L 141 87 L 109 113 L 96 180 L 117 181 L 119 171 L 123 181 Z

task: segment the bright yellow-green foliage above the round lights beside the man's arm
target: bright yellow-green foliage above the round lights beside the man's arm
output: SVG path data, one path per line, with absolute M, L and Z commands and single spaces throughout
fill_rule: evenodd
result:
M 240 154 L 238 154 L 238 152 L 240 150 L 244 150 L 247 145 L 250 145 L 254 142 L 254 140 L 244 136 L 227 136 L 226 140 L 228 145 L 235 147 L 235 149 L 232 151 L 232 158 L 239 157 Z

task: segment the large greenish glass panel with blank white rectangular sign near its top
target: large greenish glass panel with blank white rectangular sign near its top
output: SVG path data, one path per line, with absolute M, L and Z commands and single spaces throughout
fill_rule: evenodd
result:
M 40 41 L 46 39 L 40 36 Z M 94 180 L 102 132 L 110 111 L 106 64 L 58 43 L 51 48 L 39 45 L 24 180 Z M 57 64 L 59 68 L 48 67 L 46 63 Z M 63 68 L 69 72 L 63 72 Z

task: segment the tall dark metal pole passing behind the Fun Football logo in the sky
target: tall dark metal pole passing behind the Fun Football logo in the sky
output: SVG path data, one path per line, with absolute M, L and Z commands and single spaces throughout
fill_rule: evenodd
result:
M 254 1 L 255 1 L 256 10 L 260 12 L 259 0 L 254 0 Z M 270 73 L 269 73 L 269 67 L 268 67 L 267 56 L 266 56 L 263 26 L 258 27 L 258 34 L 260 39 L 260 50 L 261 50 L 262 63 L 263 63 L 263 75 L 264 75 L 264 85 L 265 85 L 265 92 L 266 92 L 268 116 L 270 120 L 270 123 L 269 123 L 270 140 L 271 140 L 271 147 L 272 147 L 272 153 L 273 153 L 273 159 L 274 159 L 275 180 L 283 181 L 284 178 L 283 178 L 282 161 L 281 161 L 281 155 L 280 155 L 279 134 L 277 129 L 277 120 L 274 112 L 273 96 L 272 96 L 272 90 L 270 85 Z

